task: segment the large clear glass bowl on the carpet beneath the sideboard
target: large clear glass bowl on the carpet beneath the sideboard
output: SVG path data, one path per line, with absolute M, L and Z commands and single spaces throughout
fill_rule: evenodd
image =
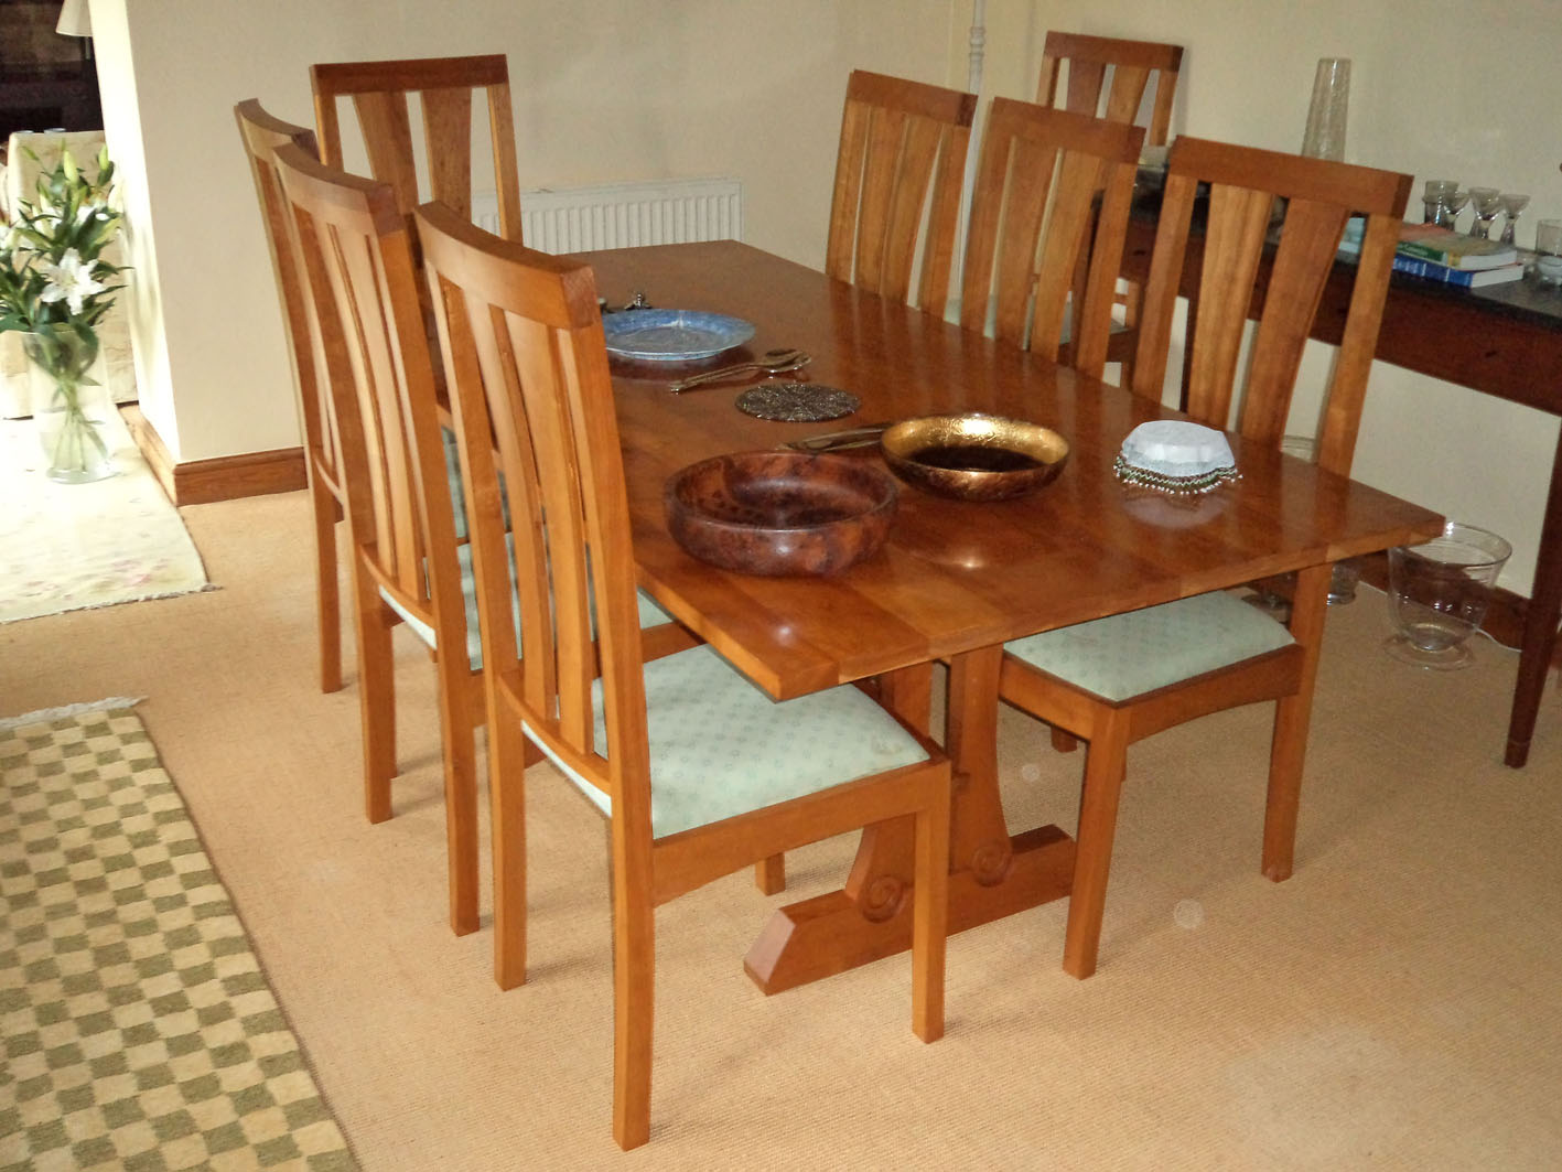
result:
M 1465 641 L 1481 627 L 1492 586 L 1514 547 L 1495 533 L 1450 520 L 1425 545 L 1389 550 L 1389 617 L 1384 647 L 1395 659 L 1454 670 L 1475 658 Z

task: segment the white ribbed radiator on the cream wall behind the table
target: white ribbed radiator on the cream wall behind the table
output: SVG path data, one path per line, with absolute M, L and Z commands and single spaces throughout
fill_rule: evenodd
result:
M 498 231 L 498 198 L 473 198 L 472 219 Z M 551 253 L 740 241 L 744 184 L 715 178 L 523 191 L 520 231 L 528 247 Z

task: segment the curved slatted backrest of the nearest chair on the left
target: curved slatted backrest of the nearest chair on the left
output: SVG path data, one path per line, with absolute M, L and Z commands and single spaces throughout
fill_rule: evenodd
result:
M 481 624 L 489 688 L 512 695 L 511 716 L 609 794 L 614 822 L 648 844 L 634 555 L 592 270 L 437 203 L 419 208 L 417 231 L 467 480 L 478 613 L 506 614 L 520 600 L 519 645 L 511 624 Z M 598 667 L 606 758 L 594 739 Z

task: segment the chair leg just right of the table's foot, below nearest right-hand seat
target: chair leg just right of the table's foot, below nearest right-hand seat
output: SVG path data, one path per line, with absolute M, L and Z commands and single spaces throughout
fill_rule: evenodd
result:
M 1095 972 L 1101 944 L 1106 877 L 1112 866 L 1117 800 L 1123 792 L 1126 763 L 1128 717 L 1112 713 L 1090 738 L 1084 761 L 1084 792 L 1079 797 L 1079 834 L 1075 842 L 1068 927 L 1064 933 L 1064 972 L 1081 980 Z

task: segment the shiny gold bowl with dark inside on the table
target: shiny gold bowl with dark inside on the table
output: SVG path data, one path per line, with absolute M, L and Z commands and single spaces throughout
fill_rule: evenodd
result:
M 1007 500 L 1057 480 L 1068 441 L 1023 419 L 918 416 L 884 428 L 879 448 L 908 484 L 958 500 Z

